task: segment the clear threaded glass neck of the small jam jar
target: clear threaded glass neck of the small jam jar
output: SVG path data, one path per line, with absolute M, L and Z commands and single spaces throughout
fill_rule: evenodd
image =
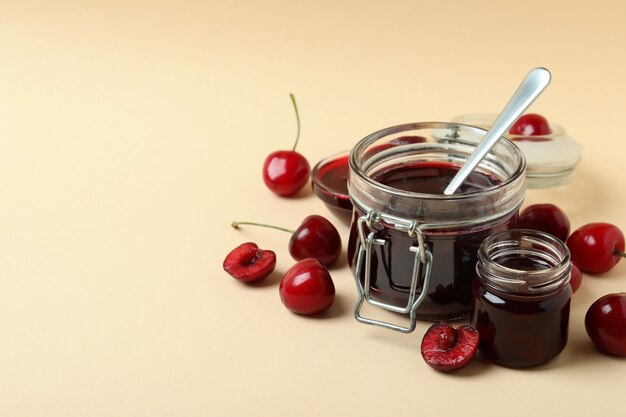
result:
M 569 283 L 571 263 L 565 244 L 536 230 L 507 230 L 485 239 L 478 250 L 479 279 L 498 291 L 544 295 Z

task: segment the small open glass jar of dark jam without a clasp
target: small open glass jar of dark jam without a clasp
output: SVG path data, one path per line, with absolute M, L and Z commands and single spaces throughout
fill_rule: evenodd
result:
M 567 344 L 570 255 L 559 239 L 509 230 L 485 239 L 478 252 L 470 322 L 479 349 L 511 368 L 541 365 Z

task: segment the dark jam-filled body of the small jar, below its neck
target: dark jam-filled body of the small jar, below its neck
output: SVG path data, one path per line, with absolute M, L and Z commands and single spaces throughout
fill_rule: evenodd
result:
M 543 296 L 503 294 L 474 280 L 470 324 L 480 334 L 479 349 L 492 362 L 511 368 L 537 366 L 567 344 L 571 289 Z

